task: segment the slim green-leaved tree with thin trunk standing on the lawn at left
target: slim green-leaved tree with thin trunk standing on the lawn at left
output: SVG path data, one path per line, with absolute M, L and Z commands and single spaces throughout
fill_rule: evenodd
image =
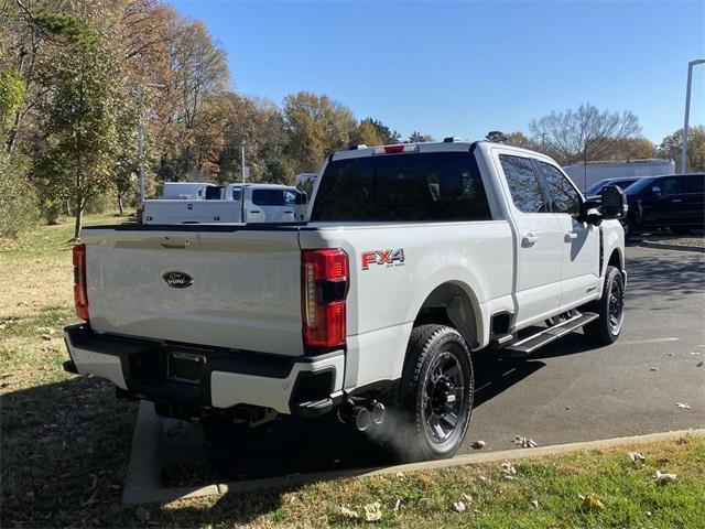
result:
M 91 198 L 110 188 L 122 152 L 120 119 L 132 101 L 118 57 L 105 43 L 63 51 L 42 108 L 44 149 L 35 163 L 46 201 L 70 201 L 74 236 Z M 132 145 L 128 145 L 132 148 Z

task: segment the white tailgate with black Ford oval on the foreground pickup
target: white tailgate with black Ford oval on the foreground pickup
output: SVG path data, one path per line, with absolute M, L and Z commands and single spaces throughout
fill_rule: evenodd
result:
M 295 228 L 101 228 L 82 239 L 94 331 L 303 354 Z

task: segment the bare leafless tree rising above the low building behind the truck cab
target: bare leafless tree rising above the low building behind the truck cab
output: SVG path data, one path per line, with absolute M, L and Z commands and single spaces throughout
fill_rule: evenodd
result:
M 616 141 L 633 137 L 641 131 L 639 118 L 631 111 L 600 111 L 590 104 L 577 110 L 551 112 L 529 123 L 536 141 L 560 155 L 560 162 L 570 164 L 598 160 Z

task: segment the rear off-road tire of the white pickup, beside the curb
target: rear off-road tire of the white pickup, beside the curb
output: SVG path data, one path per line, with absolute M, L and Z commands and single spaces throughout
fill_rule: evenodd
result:
M 462 389 L 459 386 L 454 388 L 452 378 L 434 377 L 443 373 L 443 366 L 451 366 L 449 370 L 454 374 L 459 371 Z M 431 369 L 434 373 L 430 373 Z M 432 382 L 434 378 L 436 382 Z M 441 388 L 442 385 L 444 386 Z M 454 389 L 447 390 L 447 387 Z M 463 336 L 455 328 L 445 325 L 427 324 L 414 327 L 409 338 L 402 378 L 390 402 L 388 447 L 403 461 L 452 457 L 460 446 L 470 423 L 474 390 L 470 350 Z M 430 392 L 433 393 L 433 398 L 430 398 Z M 448 396 L 451 392 L 454 393 L 452 401 Z M 441 417 L 430 410 L 431 402 L 438 400 L 438 393 L 445 395 L 444 398 L 448 400 L 436 408 L 453 407 L 455 402 L 459 402 L 458 413 L 453 413 L 457 417 L 454 427 L 444 422 L 447 420 L 446 415 L 440 421 L 451 430 L 445 440 L 434 439 L 427 422 L 429 415 Z M 457 400 L 459 396 L 460 401 Z M 437 428 L 443 429 L 443 425 L 438 423 Z M 434 432 L 437 434 L 438 431 Z

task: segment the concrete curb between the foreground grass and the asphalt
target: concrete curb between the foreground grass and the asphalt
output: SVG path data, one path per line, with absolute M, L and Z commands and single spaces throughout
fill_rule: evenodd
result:
M 140 408 L 142 412 L 142 408 Z M 138 425 L 140 419 L 138 417 Z M 150 504 L 150 503 L 164 503 L 173 501 L 176 499 L 195 498 L 202 496 L 223 495 L 227 493 L 246 493 L 253 490 L 264 489 L 285 489 L 290 487 L 296 487 L 305 484 L 339 479 L 345 477 L 365 477 L 365 476 L 379 476 L 384 474 L 397 474 L 398 472 L 417 472 L 417 471 L 432 471 L 436 468 L 447 468 L 452 466 L 464 466 L 480 463 L 491 463 L 496 461 L 513 461 L 513 460 L 535 460 L 539 457 L 563 455 L 571 452 L 588 451 L 588 450 L 605 450 L 626 445 L 646 444 L 660 441 L 674 441 L 681 439 L 684 435 L 695 435 L 698 438 L 705 438 L 705 429 L 697 430 L 679 430 L 673 432 L 650 433 L 646 435 L 634 435 L 629 438 L 616 438 L 606 439 L 600 441 L 587 441 L 579 443 L 557 444 L 552 446 L 540 446 L 536 449 L 514 449 L 503 450 L 497 452 L 475 452 L 471 454 L 464 454 L 455 456 L 451 460 L 441 461 L 425 461 L 421 463 L 410 463 L 404 465 L 388 466 L 383 468 L 358 468 L 349 471 L 336 471 L 336 472 L 318 472 L 312 474 L 295 474 L 291 476 L 279 476 L 262 479 L 251 479 L 247 482 L 230 482 L 223 484 L 212 484 L 202 487 L 177 487 L 177 488 L 159 488 L 154 477 L 148 477 L 149 485 L 144 486 L 142 483 L 140 486 L 135 482 L 139 482 L 139 475 L 133 471 L 132 460 L 130 461 L 130 471 L 128 473 L 128 481 L 124 486 L 122 501 L 128 505 Z M 137 427 L 135 427 L 137 436 Z M 149 457 L 149 453 L 138 450 L 132 450 L 132 456 L 138 456 L 144 463 L 144 458 Z M 159 472 L 159 471 L 158 471 Z M 142 476 L 147 477 L 147 476 Z

